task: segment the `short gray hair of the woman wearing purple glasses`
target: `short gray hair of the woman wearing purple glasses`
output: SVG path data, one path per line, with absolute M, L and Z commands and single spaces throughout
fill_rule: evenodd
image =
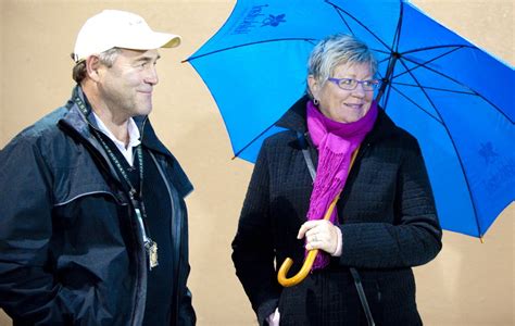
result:
M 327 78 L 332 77 L 335 68 L 346 63 L 368 64 L 373 75 L 377 72 L 377 60 L 366 43 L 352 35 L 335 34 L 313 48 L 307 61 L 307 74 L 324 85 Z M 309 87 L 306 91 L 313 98 Z

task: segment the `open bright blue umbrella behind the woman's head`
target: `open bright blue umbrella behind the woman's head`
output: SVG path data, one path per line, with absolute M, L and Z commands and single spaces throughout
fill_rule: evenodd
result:
M 314 43 L 353 34 L 379 61 L 381 108 L 420 142 L 442 227 L 482 237 L 515 198 L 514 70 L 404 1 L 238 1 L 188 61 L 235 155 L 254 162 L 305 89 Z

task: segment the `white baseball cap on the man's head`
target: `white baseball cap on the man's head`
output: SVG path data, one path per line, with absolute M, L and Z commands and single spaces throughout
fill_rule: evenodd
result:
M 79 62 L 91 54 L 99 54 L 112 48 L 153 50 L 175 48 L 178 45 L 180 36 L 153 32 L 137 14 L 104 10 L 83 25 L 72 57 L 75 62 Z

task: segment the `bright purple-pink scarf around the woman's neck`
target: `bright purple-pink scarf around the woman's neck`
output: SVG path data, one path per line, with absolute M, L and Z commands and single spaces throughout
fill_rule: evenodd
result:
M 346 186 L 352 153 L 372 130 L 377 117 L 377 104 L 372 102 L 365 116 L 353 123 L 339 123 L 326 117 L 312 101 L 306 106 L 307 130 L 318 150 L 318 166 L 307 211 L 307 220 L 311 221 L 324 218 L 329 204 Z M 338 224 L 336 209 L 330 222 Z M 319 251 L 312 271 L 328 264 L 329 254 Z

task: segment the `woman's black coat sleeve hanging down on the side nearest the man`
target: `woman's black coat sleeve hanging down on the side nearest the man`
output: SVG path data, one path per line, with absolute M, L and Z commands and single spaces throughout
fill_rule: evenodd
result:
M 260 325 L 276 309 L 281 290 L 274 267 L 267 168 L 265 141 L 252 173 L 238 230 L 233 240 L 236 275 L 250 299 Z

